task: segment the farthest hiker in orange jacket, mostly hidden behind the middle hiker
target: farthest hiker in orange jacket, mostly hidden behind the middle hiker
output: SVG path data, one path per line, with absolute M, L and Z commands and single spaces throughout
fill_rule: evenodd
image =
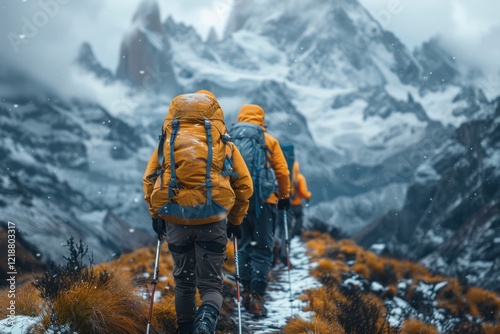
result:
M 299 162 L 295 161 L 293 164 L 293 176 L 292 176 L 292 184 L 291 184 L 291 198 L 292 198 L 292 207 L 290 208 L 292 217 L 293 217 L 293 225 L 292 225 L 292 234 L 291 236 L 302 236 L 303 231 L 303 221 L 304 221 L 304 211 L 302 208 L 302 199 L 306 200 L 306 206 L 309 205 L 309 200 L 312 197 L 312 194 L 309 190 L 307 190 L 306 178 L 299 172 Z

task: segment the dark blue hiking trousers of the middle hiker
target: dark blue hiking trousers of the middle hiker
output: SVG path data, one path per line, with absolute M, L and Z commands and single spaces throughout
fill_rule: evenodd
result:
M 276 205 L 265 203 L 259 218 L 249 211 L 241 224 L 242 238 L 238 242 L 241 281 L 246 290 L 263 296 L 273 262 L 274 219 Z

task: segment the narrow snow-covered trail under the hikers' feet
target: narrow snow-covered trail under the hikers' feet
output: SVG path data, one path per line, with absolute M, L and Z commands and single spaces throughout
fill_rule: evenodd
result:
M 245 334 L 269 334 L 281 333 L 281 328 L 286 324 L 288 318 L 293 315 L 302 318 L 309 318 L 310 312 L 304 312 L 306 305 L 298 297 L 304 290 L 316 288 L 321 284 L 310 276 L 310 270 L 316 265 L 311 263 L 306 255 L 305 244 L 295 237 L 290 244 L 290 261 L 292 270 L 290 271 L 290 281 L 292 285 L 293 303 L 290 303 L 290 292 L 288 283 L 288 270 L 281 264 L 272 269 L 273 279 L 269 282 L 268 293 L 266 294 L 266 307 L 268 315 L 266 318 L 254 319 L 243 307 L 242 324 Z M 293 305 L 293 307 L 291 307 Z M 238 313 L 235 311 L 235 321 L 238 321 Z

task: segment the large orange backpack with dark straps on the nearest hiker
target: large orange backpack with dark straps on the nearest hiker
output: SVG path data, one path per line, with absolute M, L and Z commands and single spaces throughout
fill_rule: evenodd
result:
M 234 204 L 231 148 L 224 115 L 215 98 L 174 98 L 158 144 L 160 169 L 151 206 L 164 220 L 197 225 L 224 219 Z

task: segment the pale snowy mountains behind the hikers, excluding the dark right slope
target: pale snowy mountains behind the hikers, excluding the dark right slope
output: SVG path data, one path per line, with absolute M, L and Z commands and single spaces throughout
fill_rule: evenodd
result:
M 111 249 L 99 241 L 109 217 L 132 229 L 144 226 L 143 168 L 169 100 L 181 92 L 212 90 L 228 126 L 242 104 L 262 105 L 268 131 L 296 146 L 313 192 L 308 216 L 350 234 L 401 210 L 422 168 L 439 158 L 459 127 L 491 109 L 439 40 L 412 52 L 357 1 L 235 1 L 225 36 L 206 41 L 194 28 L 160 17 L 156 1 L 143 1 L 111 79 L 90 45 L 80 52 L 80 67 L 98 80 L 147 94 L 126 110 L 33 90 L 0 91 L 0 121 L 8 124 L 0 135 L 2 166 L 9 168 L 2 190 L 18 198 L 12 202 L 2 191 L 0 203 L 11 209 L 0 220 L 23 221 L 26 240 L 40 243 L 50 231 L 61 241 L 71 229 Z M 2 86 L 16 75 L 2 73 Z M 37 192 L 23 190 L 28 184 Z M 30 210 L 37 214 L 26 216 Z

